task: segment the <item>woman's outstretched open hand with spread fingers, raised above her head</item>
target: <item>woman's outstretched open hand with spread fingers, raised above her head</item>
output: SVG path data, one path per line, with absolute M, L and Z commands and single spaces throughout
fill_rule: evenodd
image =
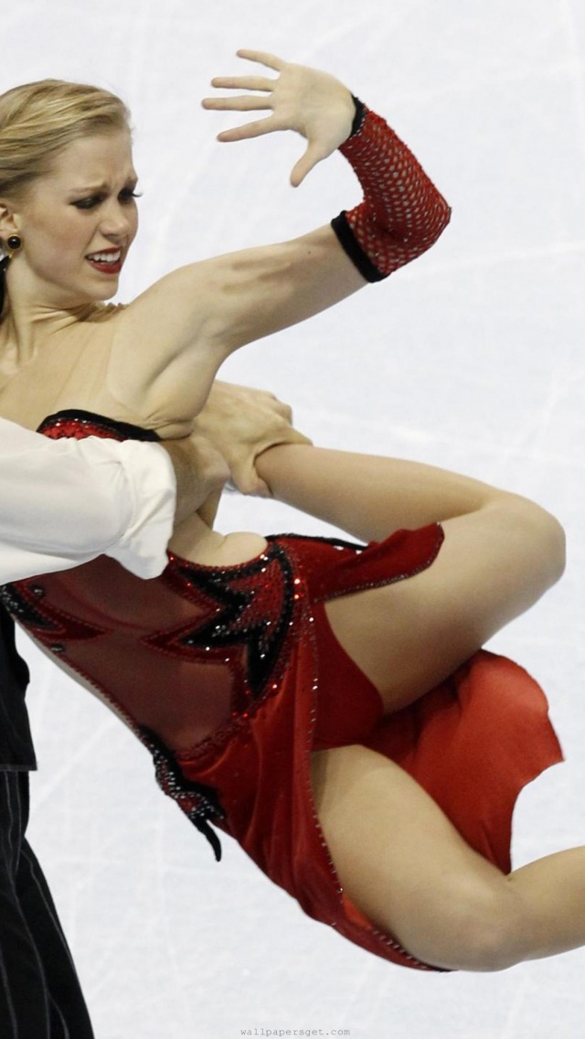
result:
M 298 187 L 318 162 L 347 140 L 355 114 L 351 94 L 334 76 L 317 69 L 292 64 L 263 51 L 237 53 L 238 57 L 273 69 L 278 76 L 216 76 L 212 86 L 246 92 L 205 98 L 204 108 L 232 112 L 271 110 L 271 114 L 223 130 L 217 139 L 247 140 L 277 130 L 295 130 L 308 141 L 304 155 L 291 172 L 291 184 Z

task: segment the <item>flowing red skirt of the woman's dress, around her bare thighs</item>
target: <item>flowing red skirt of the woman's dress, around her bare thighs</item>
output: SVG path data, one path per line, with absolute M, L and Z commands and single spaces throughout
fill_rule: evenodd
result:
M 373 926 L 343 893 L 315 811 L 311 751 L 360 743 L 391 758 L 504 873 L 520 791 L 562 760 L 544 694 L 512 661 L 481 650 L 410 707 L 384 716 L 377 690 L 336 639 L 324 601 L 419 572 L 441 538 L 434 527 L 400 532 L 360 554 L 277 538 L 307 595 L 277 694 L 222 746 L 177 755 L 188 778 L 217 791 L 227 817 L 220 825 L 305 913 L 377 956 L 419 969 L 435 968 Z

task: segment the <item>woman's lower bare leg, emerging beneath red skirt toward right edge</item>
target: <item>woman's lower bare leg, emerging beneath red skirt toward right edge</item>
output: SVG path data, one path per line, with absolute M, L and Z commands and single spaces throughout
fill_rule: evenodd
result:
M 354 904 L 433 966 L 500 970 L 585 944 L 585 848 L 504 876 L 365 747 L 314 754 L 318 815 Z

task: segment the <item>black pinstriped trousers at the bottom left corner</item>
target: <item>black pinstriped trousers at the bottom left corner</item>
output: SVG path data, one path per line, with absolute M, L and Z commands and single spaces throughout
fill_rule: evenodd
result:
M 0 1037 L 94 1039 L 27 822 L 28 772 L 0 770 Z

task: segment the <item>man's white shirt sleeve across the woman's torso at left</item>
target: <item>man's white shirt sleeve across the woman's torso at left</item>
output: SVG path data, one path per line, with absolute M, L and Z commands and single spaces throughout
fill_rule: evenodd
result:
M 0 583 L 103 553 L 156 577 L 175 504 L 172 465 L 157 444 L 51 441 L 0 419 Z

